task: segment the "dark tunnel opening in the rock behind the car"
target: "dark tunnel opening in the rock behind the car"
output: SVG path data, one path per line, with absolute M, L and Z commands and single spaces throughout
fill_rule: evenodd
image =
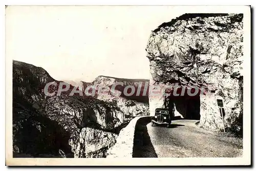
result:
M 196 119 L 200 120 L 200 95 L 189 96 L 184 94 L 184 96 L 174 96 L 169 95 L 165 97 L 164 106 L 170 111 L 175 108 L 184 119 Z

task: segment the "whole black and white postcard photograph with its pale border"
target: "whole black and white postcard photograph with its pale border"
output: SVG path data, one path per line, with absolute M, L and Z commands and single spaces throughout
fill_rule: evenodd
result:
M 250 6 L 5 10 L 7 165 L 251 164 Z

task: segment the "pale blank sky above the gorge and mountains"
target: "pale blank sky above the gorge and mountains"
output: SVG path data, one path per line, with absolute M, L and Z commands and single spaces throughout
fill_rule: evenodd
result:
M 9 6 L 7 55 L 56 80 L 151 78 L 151 31 L 182 15 L 172 6 Z M 175 12 L 174 12 L 175 11 Z

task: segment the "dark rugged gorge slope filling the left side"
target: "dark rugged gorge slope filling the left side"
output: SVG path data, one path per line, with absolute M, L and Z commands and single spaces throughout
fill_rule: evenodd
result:
M 44 88 L 50 82 L 57 84 L 49 88 L 56 94 L 61 82 L 46 70 L 13 61 L 13 156 L 105 157 L 131 120 L 124 119 L 127 111 L 92 96 L 70 96 L 72 85 L 59 96 L 48 96 Z

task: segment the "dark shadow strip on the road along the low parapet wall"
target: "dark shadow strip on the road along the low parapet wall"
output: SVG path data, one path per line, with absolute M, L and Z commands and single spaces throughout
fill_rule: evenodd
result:
M 137 123 L 134 135 L 133 157 L 157 157 L 154 146 L 147 133 L 146 125 L 149 123 Z

